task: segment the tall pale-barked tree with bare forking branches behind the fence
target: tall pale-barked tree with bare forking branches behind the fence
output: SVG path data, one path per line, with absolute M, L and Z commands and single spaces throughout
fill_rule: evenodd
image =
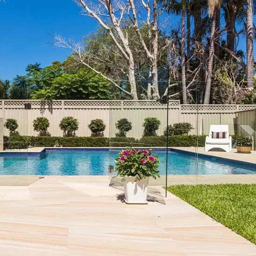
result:
M 89 16 L 96 20 L 98 24 L 106 31 L 109 38 L 115 43 L 117 54 L 121 54 L 126 61 L 128 67 L 128 87 L 124 88 L 122 84 L 115 81 L 111 77 L 91 66 L 88 60 L 88 52 L 81 44 L 74 42 L 67 42 L 61 36 L 56 36 L 55 45 L 58 47 L 66 47 L 71 49 L 72 55 L 77 61 L 80 61 L 85 67 L 90 68 L 96 74 L 110 81 L 122 94 L 127 95 L 134 100 L 138 99 L 137 82 L 135 78 L 135 53 L 132 51 L 130 45 L 131 39 L 126 33 L 127 20 L 130 20 L 131 25 L 135 29 L 140 45 L 145 53 L 146 59 L 150 64 L 152 85 L 148 85 L 148 97 L 159 99 L 158 92 L 158 17 L 161 11 L 158 10 L 156 0 L 74 0 L 83 10 L 83 15 Z M 147 37 L 143 38 L 141 34 L 141 24 L 148 27 Z

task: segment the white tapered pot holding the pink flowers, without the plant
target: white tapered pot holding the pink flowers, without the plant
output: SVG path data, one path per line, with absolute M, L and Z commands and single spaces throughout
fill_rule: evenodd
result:
M 148 178 L 135 182 L 135 177 L 126 177 L 124 182 L 124 195 L 126 203 L 148 203 Z

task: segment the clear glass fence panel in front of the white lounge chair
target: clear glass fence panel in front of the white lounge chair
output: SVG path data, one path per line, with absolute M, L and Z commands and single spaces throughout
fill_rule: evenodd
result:
M 221 85 L 213 84 L 213 88 L 216 86 Z M 198 146 L 198 184 L 248 183 L 255 179 L 256 106 L 235 101 L 229 104 L 224 96 L 228 97 L 219 95 L 218 102 L 210 99 L 215 104 L 198 105 L 198 133 L 207 136 Z

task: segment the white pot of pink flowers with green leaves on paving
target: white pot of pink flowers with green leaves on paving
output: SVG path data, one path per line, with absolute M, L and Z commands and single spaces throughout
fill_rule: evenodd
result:
M 149 177 L 160 177 L 159 161 L 151 150 L 127 148 L 119 152 L 115 160 L 118 175 L 124 181 L 126 203 L 147 203 Z

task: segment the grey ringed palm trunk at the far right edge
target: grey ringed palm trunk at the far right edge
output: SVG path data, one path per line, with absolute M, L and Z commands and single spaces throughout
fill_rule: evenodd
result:
M 253 6 L 252 0 L 247 0 L 247 27 L 246 27 L 246 48 L 247 48 L 247 86 L 250 90 L 254 86 L 254 72 L 253 72 Z

